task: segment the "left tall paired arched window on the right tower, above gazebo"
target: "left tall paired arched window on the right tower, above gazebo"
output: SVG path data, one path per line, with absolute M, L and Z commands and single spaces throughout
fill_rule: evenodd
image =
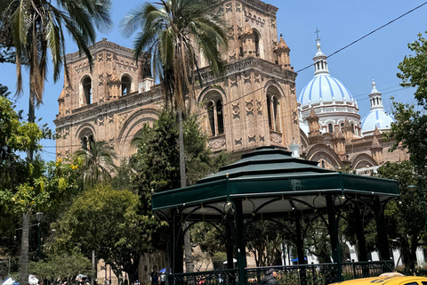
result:
M 225 105 L 227 96 L 221 87 L 207 87 L 198 96 L 198 104 L 203 104 L 204 116 L 201 118 L 206 134 L 217 136 L 225 134 Z

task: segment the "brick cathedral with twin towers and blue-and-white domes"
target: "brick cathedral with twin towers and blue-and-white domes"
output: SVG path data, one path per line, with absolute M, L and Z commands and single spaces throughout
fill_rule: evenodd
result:
M 375 82 L 371 111 L 362 119 L 350 90 L 329 74 L 318 41 L 317 52 L 313 46 L 314 77 L 297 95 L 290 48 L 278 36 L 278 9 L 260 0 L 224 0 L 215 12 L 224 19 L 228 35 L 228 50 L 222 53 L 227 71 L 214 77 L 198 54 L 203 87 L 196 91 L 194 110 L 213 151 L 239 157 L 275 146 L 318 161 L 319 167 L 359 174 L 407 159 L 401 148 L 388 152 L 393 142 L 385 142 L 383 132 L 393 118 L 383 109 Z M 71 155 L 89 141 L 106 141 L 117 152 L 118 164 L 136 151 L 133 136 L 164 108 L 162 88 L 153 78 L 141 77 L 145 64 L 133 61 L 132 49 L 102 39 L 90 51 L 92 69 L 84 55 L 66 55 L 69 80 L 54 120 L 60 134 L 56 156 Z

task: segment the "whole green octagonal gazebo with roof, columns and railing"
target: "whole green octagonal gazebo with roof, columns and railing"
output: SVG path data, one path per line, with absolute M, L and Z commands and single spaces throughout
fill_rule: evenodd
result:
M 285 280 L 291 276 L 301 284 L 328 284 L 391 271 L 394 263 L 389 252 L 383 211 L 389 201 L 399 197 L 398 183 L 317 165 L 318 162 L 295 158 L 289 151 L 262 147 L 243 155 L 238 162 L 222 167 L 217 174 L 197 181 L 196 185 L 153 193 L 153 213 L 167 221 L 171 229 L 169 281 L 180 284 L 260 282 L 265 268 L 246 267 L 248 224 L 257 220 L 292 218 L 298 260 L 304 260 L 302 216 L 317 217 L 326 224 L 333 263 L 281 265 L 278 266 L 279 278 Z M 369 209 L 375 218 L 381 261 L 367 259 L 364 228 L 359 221 L 360 208 Z M 347 210 L 356 215 L 356 223 L 352 226 L 359 232 L 359 256 L 364 262 L 342 262 L 338 225 L 342 212 Z M 228 269 L 183 273 L 183 235 L 191 225 L 202 221 L 224 225 L 222 236 L 227 248 Z M 237 263 L 233 262 L 234 257 Z

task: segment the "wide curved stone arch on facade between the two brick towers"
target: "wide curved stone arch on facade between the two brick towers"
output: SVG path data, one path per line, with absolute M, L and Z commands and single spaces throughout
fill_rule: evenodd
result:
M 152 123 L 160 116 L 160 112 L 160 110 L 153 108 L 137 110 L 126 119 L 117 136 L 116 146 L 119 157 L 123 157 L 125 153 L 132 154 L 136 151 L 131 145 L 133 136 L 141 130 L 144 124 L 148 123 L 152 126 Z

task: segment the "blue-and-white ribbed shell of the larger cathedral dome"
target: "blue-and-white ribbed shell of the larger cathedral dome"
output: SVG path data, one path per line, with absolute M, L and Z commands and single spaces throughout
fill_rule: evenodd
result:
M 308 105 L 309 102 L 320 102 L 320 100 L 323 102 L 354 101 L 350 90 L 329 74 L 320 74 L 311 79 L 302 89 L 298 99 L 302 106 Z

